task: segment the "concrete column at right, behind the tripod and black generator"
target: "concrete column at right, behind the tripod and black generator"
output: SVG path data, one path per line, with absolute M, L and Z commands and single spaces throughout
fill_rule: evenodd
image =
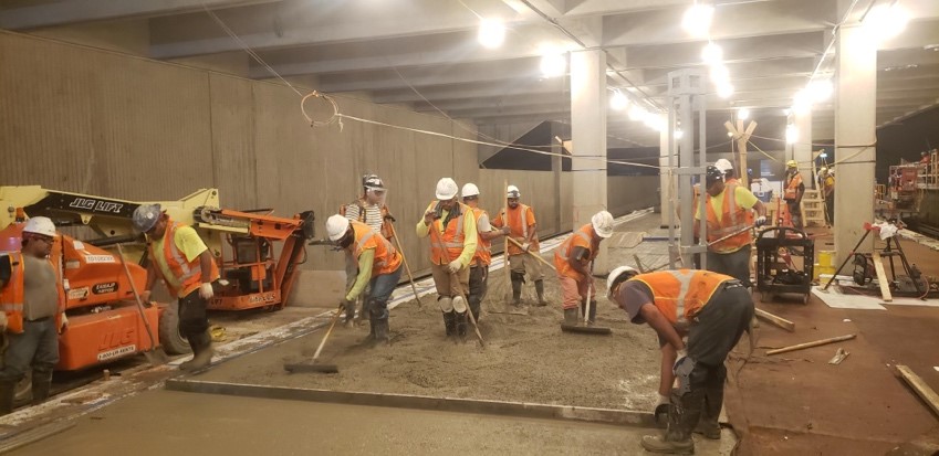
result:
M 859 24 L 842 25 L 837 40 L 835 252 L 842 262 L 864 235 L 864 223 L 874 221 L 877 153 L 864 145 L 877 139 L 877 46 Z M 874 237 L 868 236 L 858 250 L 873 248 Z

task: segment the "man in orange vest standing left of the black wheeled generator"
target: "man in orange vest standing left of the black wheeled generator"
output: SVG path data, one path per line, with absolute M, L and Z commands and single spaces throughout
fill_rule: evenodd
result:
M 727 274 L 750 286 L 751 227 L 766 224 L 766 208 L 750 192 L 738 184 L 724 184 L 723 172 L 709 166 L 705 187 L 706 214 L 695 211 L 695 233 L 699 232 L 700 220 L 708 223 L 708 269 Z M 750 210 L 757 211 L 753 219 Z M 729 236 L 729 237 L 728 237 Z

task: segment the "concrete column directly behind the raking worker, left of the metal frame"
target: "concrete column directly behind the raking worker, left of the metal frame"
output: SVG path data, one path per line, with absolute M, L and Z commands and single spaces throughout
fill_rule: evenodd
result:
M 576 230 L 606 209 L 606 54 L 571 53 L 572 202 Z M 601 243 L 594 273 L 609 272 Z

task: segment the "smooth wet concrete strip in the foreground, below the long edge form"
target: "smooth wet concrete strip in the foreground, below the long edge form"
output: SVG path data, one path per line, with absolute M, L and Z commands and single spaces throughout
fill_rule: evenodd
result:
M 605 424 L 150 391 L 10 455 L 633 455 L 645 430 Z M 696 436 L 699 455 L 727 455 Z

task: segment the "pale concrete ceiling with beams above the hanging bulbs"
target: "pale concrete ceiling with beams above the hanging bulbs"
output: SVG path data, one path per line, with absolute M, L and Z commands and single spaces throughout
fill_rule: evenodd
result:
M 835 25 L 889 0 L 713 0 L 711 40 L 723 47 L 735 93 L 707 98 L 709 135 L 723 135 L 735 107 L 761 125 L 784 125 L 783 109 L 808 81 Z M 159 60 L 246 59 L 248 46 L 278 74 L 325 93 L 478 125 L 570 123 L 566 77 L 544 78 L 544 44 L 607 52 L 609 87 L 649 106 L 666 105 L 668 72 L 703 67 L 706 41 L 680 26 L 691 0 L 7 0 L 0 28 L 30 32 L 87 23 L 142 24 L 145 54 Z M 914 20 L 878 52 L 877 123 L 939 103 L 939 1 L 900 0 Z M 853 9 L 849 7 L 853 4 Z M 207 12 L 211 10 L 213 18 Z M 479 18 L 508 24 L 495 50 L 476 40 Z M 238 35 L 232 39 L 220 22 Z M 831 56 L 825 62 L 832 62 Z M 823 66 L 830 66 L 825 64 Z M 832 68 L 833 70 L 833 68 Z M 272 77 L 250 61 L 244 76 Z M 815 139 L 834 137 L 833 104 L 816 106 Z M 713 127 L 711 127 L 713 125 Z M 782 137 L 782 131 L 758 135 Z M 658 134 L 611 112 L 611 146 L 658 144 Z M 618 139 L 625 141 L 618 142 Z

